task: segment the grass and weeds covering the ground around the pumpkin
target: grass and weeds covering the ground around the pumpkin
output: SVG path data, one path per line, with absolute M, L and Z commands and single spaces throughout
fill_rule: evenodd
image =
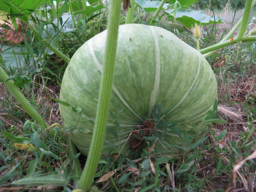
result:
M 231 22 L 232 11 L 223 12 L 216 15 L 228 18 Z M 138 21 L 143 22 L 143 18 Z M 123 22 L 124 18 L 121 20 Z M 64 53 L 72 56 L 84 41 L 104 30 L 105 26 L 106 17 L 103 16 L 100 22 L 91 20 L 87 35 L 81 35 L 84 34 L 84 28 L 81 27 L 74 32 L 59 33 L 55 41 Z M 168 26 L 163 27 L 169 29 Z M 204 41 L 201 41 L 201 47 L 218 42 L 229 27 L 230 23 L 225 23 L 218 26 L 217 30 L 212 26 L 205 28 L 208 33 L 202 37 Z M 189 33 L 169 30 L 196 47 Z M 26 34 L 29 36 L 29 32 Z M 43 44 L 31 43 L 29 47 L 36 48 L 39 53 L 45 49 Z M 230 55 L 231 64 L 227 63 L 226 55 Z M 207 139 L 191 151 L 159 156 L 154 154 L 154 143 L 150 145 L 147 141 L 148 145 L 145 145 L 137 159 L 120 156 L 115 161 L 111 158 L 101 160 L 94 186 L 109 192 L 254 191 L 256 163 L 252 160 L 255 155 L 250 155 L 256 149 L 255 58 L 255 43 L 243 44 L 237 59 L 236 46 L 221 49 L 208 58 L 218 81 L 219 109 L 216 117 L 227 120 L 227 124 L 213 124 Z M 58 98 L 59 85 L 67 66 L 56 55 L 42 55 L 42 60 L 45 62 L 41 72 L 30 70 L 26 73 L 34 82 L 23 93 L 50 125 L 62 125 L 58 103 L 49 98 Z M 29 62 L 24 63 L 29 66 Z M 17 70 L 10 74 L 22 72 Z M 58 135 L 54 139 L 49 137 L 23 111 L 2 82 L 0 106 L 0 191 L 70 192 L 77 180 L 71 175 L 74 158 L 79 158 L 81 169 L 86 161 L 79 151 L 75 157 L 68 156 L 65 140 L 72 130 L 55 127 Z M 28 139 L 35 145 L 35 151 L 15 148 L 14 143 L 24 144 Z M 245 158 L 248 160 L 242 162 Z M 235 167 L 239 168 L 236 177 L 233 171 Z

